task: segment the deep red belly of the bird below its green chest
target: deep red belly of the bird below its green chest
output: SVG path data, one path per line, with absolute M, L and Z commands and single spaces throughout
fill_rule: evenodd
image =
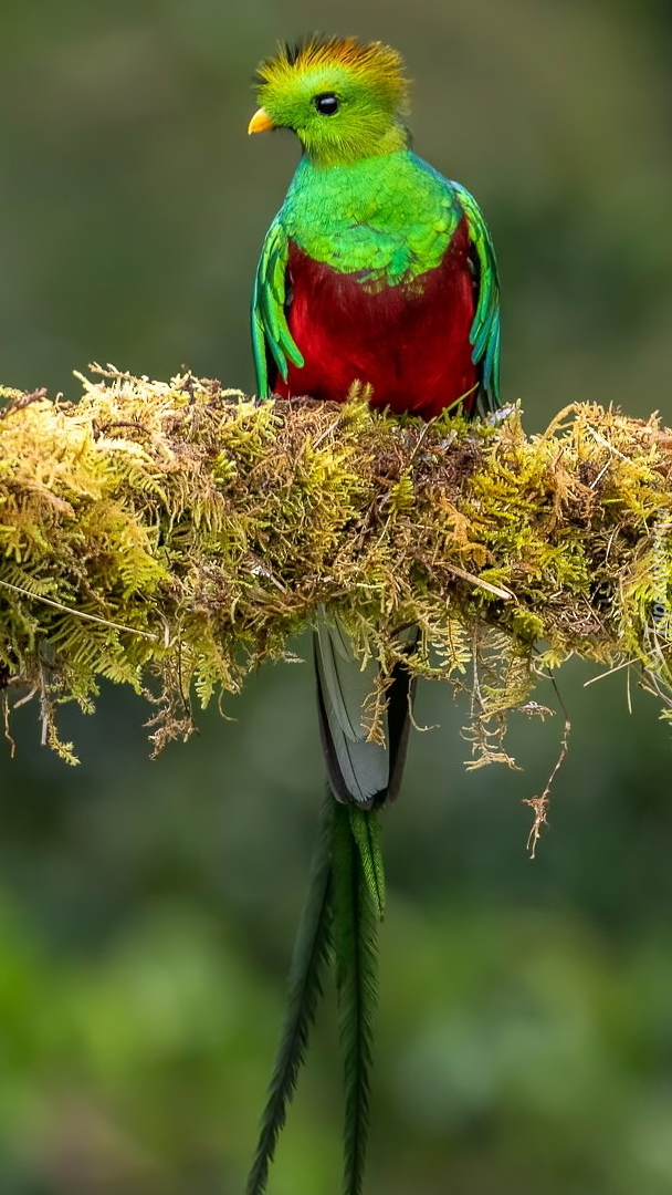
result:
M 296 245 L 289 255 L 288 324 L 304 366 L 290 364 L 276 393 L 344 402 L 355 381 L 372 386 L 371 404 L 432 418 L 477 386 L 469 332 L 474 278 L 463 220 L 432 270 L 371 293 L 357 274 L 339 274 Z

